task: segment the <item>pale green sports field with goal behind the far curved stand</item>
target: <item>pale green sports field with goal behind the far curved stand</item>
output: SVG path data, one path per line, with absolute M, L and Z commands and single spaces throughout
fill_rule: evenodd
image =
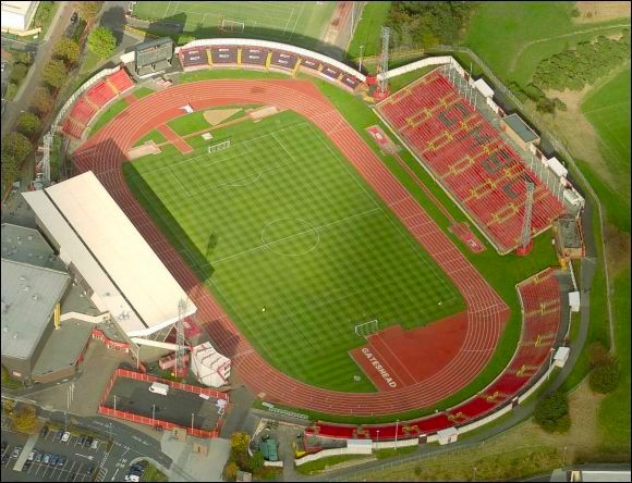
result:
M 336 2 L 315 1 L 139 1 L 134 16 L 155 21 L 151 29 L 170 30 L 173 24 L 197 38 L 247 37 L 315 47 Z

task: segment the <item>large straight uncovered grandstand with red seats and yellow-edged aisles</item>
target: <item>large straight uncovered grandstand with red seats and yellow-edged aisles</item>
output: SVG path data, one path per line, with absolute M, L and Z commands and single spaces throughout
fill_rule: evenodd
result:
M 499 252 L 520 243 L 525 182 L 535 185 L 532 235 L 562 214 L 562 203 L 441 70 L 390 96 L 377 110 Z

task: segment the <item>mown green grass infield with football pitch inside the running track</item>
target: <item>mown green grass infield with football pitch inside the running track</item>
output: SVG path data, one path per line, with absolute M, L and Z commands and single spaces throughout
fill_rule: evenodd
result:
M 464 310 L 455 287 L 313 124 L 287 111 L 123 165 L 126 181 L 245 337 L 287 374 L 375 391 L 357 324 Z M 230 139 L 228 149 L 209 144 Z M 421 355 L 423 357 L 423 355 Z M 360 376 L 360 381 L 354 381 Z

